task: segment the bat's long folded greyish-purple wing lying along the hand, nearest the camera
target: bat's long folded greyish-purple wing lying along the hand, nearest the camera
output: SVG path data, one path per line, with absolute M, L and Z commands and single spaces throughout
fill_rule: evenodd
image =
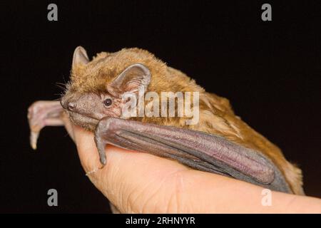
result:
M 285 177 L 262 153 L 218 135 L 185 128 L 103 118 L 95 132 L 100 160 L 106 164 L 105 147 L 116 145 L 178 160 L 184 165 L 218 173 L 280 192 L 291 192 Z

